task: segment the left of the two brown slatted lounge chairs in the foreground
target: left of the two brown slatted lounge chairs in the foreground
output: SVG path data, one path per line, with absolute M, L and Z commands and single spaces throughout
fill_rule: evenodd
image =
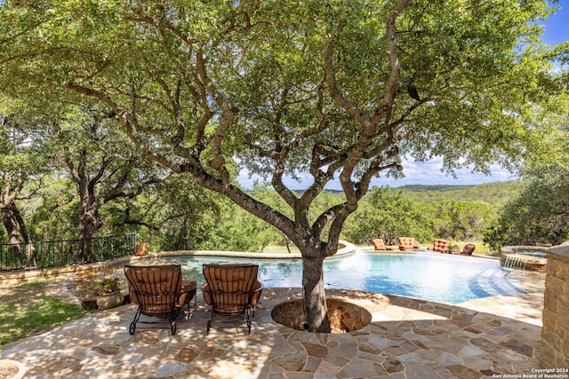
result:
M 130 283 L 131 302 L 139 305 L 128 330 L 131 335 L 140 314 L 170 322 L 172 336 L 176 334 L 176 320 L 186 304 L 188 319 L 191 317 L 189 302 L 196 297 L 196 281 L 182 280 L 180 265 L 125 265 L 124 275 Z

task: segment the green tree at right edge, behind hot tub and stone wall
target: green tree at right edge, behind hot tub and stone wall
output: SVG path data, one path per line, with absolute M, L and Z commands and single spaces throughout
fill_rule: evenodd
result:
M 563 64 L 569 57 L 567 51 L 569 43 L 562 43 L 551 54 L 558 59 L 558 64 Z M 557 124 L 565 134 L 557 138 L 556 144 L 566 152 L 569 146 L 566 134 L 569 131 L 567 72 L 556 71 L 554 79 L 565 92 L 534 109 L 533 120 Z M 569 171 L 566 162 L 565 153 L 555 163 L 530 162 L 525 167 L 525 186 L 504 205 L 497 220 L 487 229 L 484 236 L 487 245 L 499 250 L 501 246 L 533 245 L 536 242 L 559 244 L 569 239 L 566 220 Z

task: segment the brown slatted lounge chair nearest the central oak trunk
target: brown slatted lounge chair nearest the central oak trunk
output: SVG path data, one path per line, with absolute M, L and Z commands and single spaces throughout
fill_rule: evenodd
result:
M 204 265 L 206 283 L 202 287 L 204 302 L 211 306 L 212 316 L 207 321 L 206 335 L 213 317 L 244 316 L 247 334 L 251 334 L 251 317 L 263 289 L 257 280 L 259 265 Z

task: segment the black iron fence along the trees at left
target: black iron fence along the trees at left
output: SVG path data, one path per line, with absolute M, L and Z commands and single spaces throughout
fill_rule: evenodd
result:
M 0 244 L 0 271 L 87 264 L 132 256 L 135 252 L 136 233 L 88 240 L 3 243 Z

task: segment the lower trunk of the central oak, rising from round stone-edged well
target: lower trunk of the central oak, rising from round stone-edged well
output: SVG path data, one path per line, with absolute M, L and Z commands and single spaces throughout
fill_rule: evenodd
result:
M 324 288 L 324 257 L 319 253 L 303 254 L 302 259 L 306 328 L 309 332 L 330 333 Z

